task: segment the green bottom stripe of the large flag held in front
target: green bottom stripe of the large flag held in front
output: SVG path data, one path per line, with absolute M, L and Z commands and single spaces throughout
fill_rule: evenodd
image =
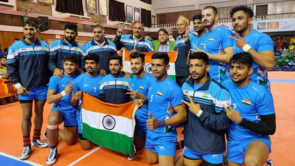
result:
M 106 149 L 124 154 L 133 153 L 133 138 L 113 131 L 101 130 L 83 123 L 83 137 Z

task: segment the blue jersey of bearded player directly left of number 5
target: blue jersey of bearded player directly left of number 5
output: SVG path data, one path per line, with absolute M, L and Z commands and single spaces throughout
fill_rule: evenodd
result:
M 132 90 L 140 92 L 145 97 L 148 97 L 148 83 L 150 82 L 150 79 L 152 76 L 148 73 L 146 73 L 143 77 L 137 78 L 136 76 L 133 76 L 132 79 Z M 133 99 L 135 101 L 137 99 Z M 142 106 L 140 109 L 136 110 L 135 117 L 137 121 L 140 121 L 142 123 L 146 123 L 148 119 L 148 107 L 146 105 Z

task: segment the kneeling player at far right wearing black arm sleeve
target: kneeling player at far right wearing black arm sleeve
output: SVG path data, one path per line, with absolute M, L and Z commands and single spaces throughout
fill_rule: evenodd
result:
M 232 79 L 223 82 L 233 103 L 233 108 L 227 103 L 229 109 L 223 105 L 232 120 L 227 138 L 227 166 L 263 165 L 271 153 L 268 135 L 276 131 L 273 97 L 249 79 L 252 63 L 251 54 L 236 53 L 230 58 Z

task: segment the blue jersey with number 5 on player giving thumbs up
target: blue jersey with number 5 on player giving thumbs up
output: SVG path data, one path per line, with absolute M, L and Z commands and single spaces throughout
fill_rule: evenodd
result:
M 156 78 L 151 78 L 147 90 L 148 111 L 158 120 L 171 118 L 176 114 L 173 107 L 183 104 L 181 102 L 183 100 L 182 91 L 170 77 L 161 82 L 157 82 Z M 165 126 L 147 132 L 147 139 L 152 141 L 175 141 L 176 138 L 177 132 L 174 126 Z

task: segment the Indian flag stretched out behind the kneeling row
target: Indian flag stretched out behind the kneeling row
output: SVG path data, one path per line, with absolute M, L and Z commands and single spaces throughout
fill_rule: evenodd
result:
M 153 72 L 152 72 L 152 55 L 154 54 L 154 52 L 145 52 L 145 71 L 152 75 Z M 170 65 L 170 69 L 168 70 L 168 76 L 171 77 L 174 81 L 176 80 L 175 79 L 175 58 L 176 58 L 176 54 L 177 54 L 177 51 L 174 51 L 174 53 L 172 52 L 168 52 L 168 56 L 169 56 L 169 65 Z M 132 73 L 132 70 L 130 68 L 130 58 L 129 58 L 129 55 L 130 55 L 130 51 L 123 51 L 123 64 L 124 64 L 124 69 L 123 71 L 126 71 L 126 72 L 130 72 Z

